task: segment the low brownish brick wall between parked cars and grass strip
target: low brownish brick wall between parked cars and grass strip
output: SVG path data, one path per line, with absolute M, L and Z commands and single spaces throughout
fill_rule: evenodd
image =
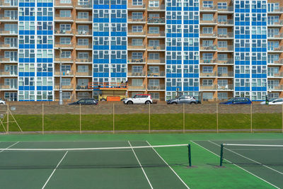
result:
M 79 115 L 79 105 L 9 105 L 11 113 L 21 115 L 42 114 L 42 107 L 45 115 L 48 114 L 75 114 Z M 124 104 L 108 104 L 108 105 L 81 105 L 81 114 L 165 114 L 165 113 L 282 113 L 282 105 L 124 105 Z M 150 107 L 150 110 L 149 110 Z M 7 105 L 0 105 L 0 114 L 4 114 Z

